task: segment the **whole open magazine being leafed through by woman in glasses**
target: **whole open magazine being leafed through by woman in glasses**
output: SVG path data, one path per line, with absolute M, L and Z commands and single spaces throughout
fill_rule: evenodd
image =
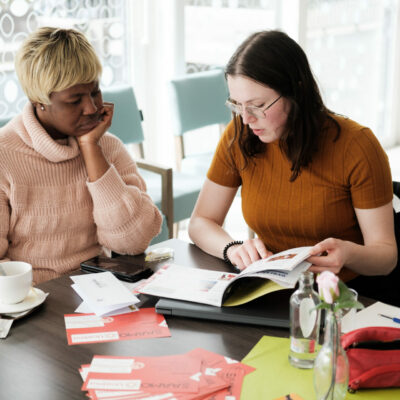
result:
M 239 274 L 166 264 L 137 290 L 218 307 L 240 305 L 276 290 L 294 288 L 300 274 L 311 265 L 304 261 L 310 249 L 298 247 L 273 254 Z

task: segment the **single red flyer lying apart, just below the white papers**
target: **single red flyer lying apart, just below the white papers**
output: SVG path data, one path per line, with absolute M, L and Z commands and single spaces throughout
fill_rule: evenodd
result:
M 111 317 L 66 314 L 64 321 L 69 345 L 171 336 L 164 317 L 154 307 Z

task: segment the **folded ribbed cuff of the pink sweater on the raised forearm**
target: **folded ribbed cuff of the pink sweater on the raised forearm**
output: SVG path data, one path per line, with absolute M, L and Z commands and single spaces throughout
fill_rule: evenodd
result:
M 119 203 L 126 192 L 126 184 L 113 165 L 97 181 L 87 181 L 86 185 L 93 203 L 100 208 Z

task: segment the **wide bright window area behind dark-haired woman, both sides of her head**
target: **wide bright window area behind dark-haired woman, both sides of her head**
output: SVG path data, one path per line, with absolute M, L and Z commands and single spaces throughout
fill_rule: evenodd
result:
M 223 66 L 250 33 L 281 29 L 306 51 L 327 106 L 392 146 L 400 142 L 399 8 L 399 0 L 185 0 L 187 71 Z

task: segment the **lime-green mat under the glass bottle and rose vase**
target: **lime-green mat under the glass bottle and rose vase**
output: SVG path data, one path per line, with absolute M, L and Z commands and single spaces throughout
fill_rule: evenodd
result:
M 315 399 L 313 370 L 289 364 L 289 339 L 263 336 L 242 360 L 255 367 L 243 383 L 241 400 L 273 400 L 297 393 L 304 400 Z M 400 389 L 359 390 L 347 393 L 346 400 L 400 399 Z

